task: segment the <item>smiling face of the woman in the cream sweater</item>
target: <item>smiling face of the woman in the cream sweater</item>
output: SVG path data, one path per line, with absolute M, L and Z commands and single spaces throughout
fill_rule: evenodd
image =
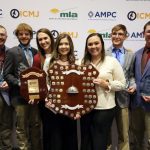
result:
M 101 57 L 102 43 L 98 36 L 92 36 L 87 41 L 87 49 L 91 57 Z

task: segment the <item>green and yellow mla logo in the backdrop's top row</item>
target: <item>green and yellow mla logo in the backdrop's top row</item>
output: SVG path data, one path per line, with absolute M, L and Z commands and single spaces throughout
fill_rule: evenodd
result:
M 78 18 L 78 14 L 76 12 L 72 12 L 72 9 L 75 9 L 75 8 L 70 8 L 70 9 L 60 11 L 57 8 L 53 8 L 50 10 L 50 12 L 53 14 L 58 14 L 59 18 L 72 18 L 72 19 Z

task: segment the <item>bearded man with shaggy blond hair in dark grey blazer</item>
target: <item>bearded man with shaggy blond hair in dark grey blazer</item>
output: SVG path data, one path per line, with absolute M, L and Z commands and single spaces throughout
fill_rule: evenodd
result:
M 4 78 L 10 87 L 12 105 L 16 112 L 16 136 L 20 150 L 41 150 L 41 121 L 38 105 L 28 104 L 20 95 L 21 71 L 33 64 L 37 50 L 31 47 L 33 30 L 30 25 L 21 23 L 15 30 L 19 45 L 9 49 L 4 64 Z

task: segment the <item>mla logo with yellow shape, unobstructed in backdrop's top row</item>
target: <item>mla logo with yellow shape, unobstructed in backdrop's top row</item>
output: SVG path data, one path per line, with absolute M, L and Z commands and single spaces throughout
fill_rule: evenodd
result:
M 74 11 L 72 11 L 71 8 L 67 10 L 59 10 L 57 8 L 53 8 L 50 10 L 50 12 L 53 14 L 53 17 L 50 17 L 49 19 L 58 19 L 58 20 L 77 20 L 78 14 Z

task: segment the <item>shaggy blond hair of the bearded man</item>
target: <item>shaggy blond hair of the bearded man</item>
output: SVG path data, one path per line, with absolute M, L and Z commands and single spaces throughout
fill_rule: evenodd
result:
M 31 37 L 33 38 L 33 30 L 32 27 L 26 23 L 20 23 L 15 29 L 15 35 L 18 36 L 19 31 L 26 30 L 29 31 Z

